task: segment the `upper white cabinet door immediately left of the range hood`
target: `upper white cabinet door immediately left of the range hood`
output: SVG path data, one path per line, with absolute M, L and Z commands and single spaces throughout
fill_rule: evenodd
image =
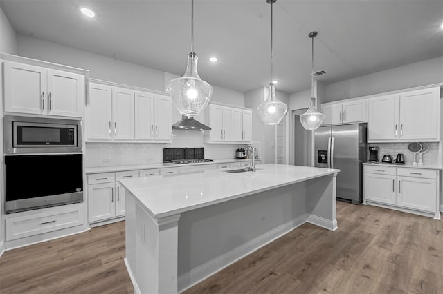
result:
M 154 97 L 154 133 L 156 140 L 170 141 L 172 134 L 171 97 L 155 95 Z

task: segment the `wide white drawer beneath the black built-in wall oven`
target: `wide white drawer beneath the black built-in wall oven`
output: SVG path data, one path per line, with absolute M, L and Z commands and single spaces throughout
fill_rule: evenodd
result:
M 51 212 L 21 215 L 6 219 L 6 241 L 39 235 L 83 224 L 83 210 L 79 206 Z

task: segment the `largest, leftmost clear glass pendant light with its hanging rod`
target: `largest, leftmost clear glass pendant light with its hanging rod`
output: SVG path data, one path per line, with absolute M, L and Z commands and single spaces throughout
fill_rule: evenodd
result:
M 195 117 L 204 110 L 213 95 L 213 87 L 200 79 L 197 73 L 197 54 L 194 52 L 194 0 L 191 1 L 191 52 L 188 54 L 188 67 L 183 77 L 172 79 L 168 92 L 172 103 L 181 115 Z

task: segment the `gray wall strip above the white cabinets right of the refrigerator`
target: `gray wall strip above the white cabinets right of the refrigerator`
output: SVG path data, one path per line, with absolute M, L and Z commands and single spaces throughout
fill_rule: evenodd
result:
M 325 102 L 436 84 L 443 81 L 443 56 L 326 86 Z

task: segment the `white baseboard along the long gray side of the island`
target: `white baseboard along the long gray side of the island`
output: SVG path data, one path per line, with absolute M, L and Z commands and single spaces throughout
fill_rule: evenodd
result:
M 226 268 L 226 266 L 229 266 L 246 255 L 253 253 L 262 246 L 273 242 L 273 240 L 278 239 L 282 235 L 292 231 L 294 228 L 305 224 L 307 219 L 308 215 L 301 215 L 300 217 L 297 217 L 286 224 L 282 224 L 281 226 L 278 226 L 277 228 L 274 228 L 273 230 L 252 239 L 251 241 L 233 249 L 232 251 L 224 253 L 219 257 L 206 262 L 205 264 L 197 266 L 196 268 L 192 268 L 192 270 L 188 271 L 187 273 L 181 274 L 177 279 L 179 292 L 185 291 L 191 286 L 205 280 L 210 275 L 217 273 L 217 271 L 221 271 L 221 269 Z

